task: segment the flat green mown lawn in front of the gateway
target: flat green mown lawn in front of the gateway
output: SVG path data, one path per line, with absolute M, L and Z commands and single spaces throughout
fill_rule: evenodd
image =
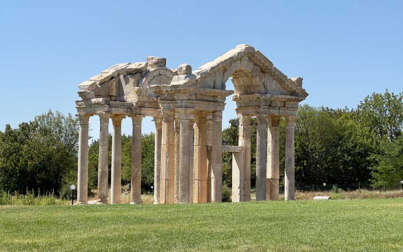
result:
M 0 206 L 1 251 L 403 251 L 403 199 Z

